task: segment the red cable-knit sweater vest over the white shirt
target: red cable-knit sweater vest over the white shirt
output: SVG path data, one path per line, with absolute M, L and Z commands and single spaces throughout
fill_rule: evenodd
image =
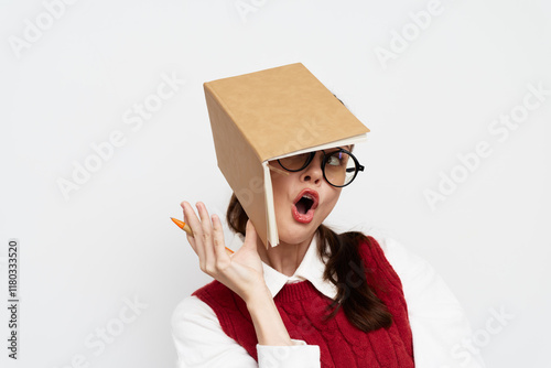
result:
M 342 309 L 334 318 L 324 321 L 327 314 L 325 306 L 332 300 L 320 293 L 310 281 L 285 284 L 273 300 L 291 338 L 320 346 L 323 368 L 414 367 L 401 281 L 379 243 L 372 237 L 367 239 L 367 242 L 360 243 L 359 253 L 365 269 L 371 271 L 370 277 L 380 286 L 375 290 L 377 296 L 392 314 L 393 322 L 389 328 L 364 333 L 348 322 Z M 198 289 L 193 295 L 214 310 L 223 331 L 258 361 L 257 335 L 245 302 L 218 281 Z

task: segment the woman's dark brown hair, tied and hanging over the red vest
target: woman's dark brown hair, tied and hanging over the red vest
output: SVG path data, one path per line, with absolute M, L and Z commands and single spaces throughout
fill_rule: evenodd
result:
M 226 213 L 229 227 L 245 235 L 248 219 L 236 195 L 231 195 Z M 316 236 L 320 257 L 328 257 L 323 277 L 337 288 L 328 307 L 333 311 L 326 317 L 334 317 L 342 307 L 348 321 L 364 332 L 390 327 L 392 315 L 374 292 L 379 289 L 376 280 L 369 277 L 371 271 L 358 262 L 361 260 L 358 246 L 369 242 L 369 238 L 358 231 L 336 234 L 325 225 L 320 225 Z

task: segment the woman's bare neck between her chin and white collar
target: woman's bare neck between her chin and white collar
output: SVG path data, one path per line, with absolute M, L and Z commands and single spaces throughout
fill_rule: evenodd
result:
M 300 243 L 280 241 L 277 247 L 269 247 L 268 249 L 260 241 L 258 253 L 266 264 L 284 275 L 291 277 L 304 259 L 312 238 L 313 236 Z

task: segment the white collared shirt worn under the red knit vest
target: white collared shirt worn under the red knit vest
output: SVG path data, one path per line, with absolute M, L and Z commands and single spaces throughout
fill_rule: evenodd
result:
M 399 275 L 413 335 L 413 355 L 418 368 L 482 368 L 479 356 L 463 347 L 472 337 L 464 312 L 432 267 L 409 253 L 388 237 L 372 236 Z M 262 262 L 264 280 L 272 296 L 287 283 L 307 280 L 327 297 L 334 299 L 336 288 L 323 279 L 324 261 L 317 255 L 316 237 L 292 277 L 276 271 Z M 236 235 L 230 245 L 238 249 L 242 236 Z M 196 296 L 184 299 L 172 315 L 172 335 L 179 355 L 179 368 L 320 368 L 320 347 L 293 340 L 293 346 L 257 345 L 258 364 L 227 336 L 215 312 Z M 284 364 L 282 362 L 284 361 Z

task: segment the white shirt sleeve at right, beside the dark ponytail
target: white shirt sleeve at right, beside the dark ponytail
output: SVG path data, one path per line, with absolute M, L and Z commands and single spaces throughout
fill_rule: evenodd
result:
M 464 345 L 473 337 L 471 325 L 443 279 L 429 262 L 408 252 L 395 239 L 377 241 L 402 282 L 415 367 L 484 368 L 478 351 Z

